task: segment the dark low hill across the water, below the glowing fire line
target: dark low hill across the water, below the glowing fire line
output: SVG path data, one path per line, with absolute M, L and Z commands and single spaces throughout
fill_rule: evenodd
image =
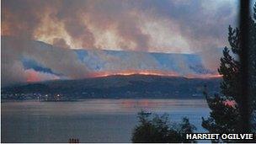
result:
M 219 78 L 199 79 L 151 75 L 109 76 L 81 80 L 24 83 L 2 89 L 2 99 L 44 99 L 60 95 L 65 99 L 203 99 L 204 85 L 209 93 L 219 90 Z

